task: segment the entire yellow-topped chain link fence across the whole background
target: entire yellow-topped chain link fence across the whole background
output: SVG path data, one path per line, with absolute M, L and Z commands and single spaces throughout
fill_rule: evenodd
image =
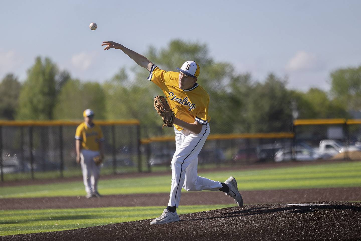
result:
M 105 137 L 101 175 L 170 171 L 174 135 L 141 139 L 136 120 L 96 123 Z M 74 139 L 79 124 L 0 122 L 1 181 L 80 176 Z M 210 134 L 198 156 L 198 168 L 321 159 L 361 160 L 361 120 L 295 120 L 292 130 Z

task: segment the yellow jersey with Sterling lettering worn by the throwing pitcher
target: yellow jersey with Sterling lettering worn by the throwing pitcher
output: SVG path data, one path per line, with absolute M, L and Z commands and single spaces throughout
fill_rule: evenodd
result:
M 197 83 L 188 89 L 181 90 L 178 86 L 179 72 L 165 71 L 153 65 L 148 80 L 159 86 L 167 97 L 170 108 L 174 108 L 175 117 L 194 123 L 196 120 L 202 125 L 207 125 L 210 120 L 208 116 L 209 95 Z M 174 125 L 177 130 L 183 128 Z

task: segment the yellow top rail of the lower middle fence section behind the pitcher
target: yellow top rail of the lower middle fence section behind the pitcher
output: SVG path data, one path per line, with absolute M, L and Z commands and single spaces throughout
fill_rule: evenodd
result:
M 226 140 L 226 139 L 270 139 L 270 138 L 293 138 L 294 134 L 290 132 L 278 132 L 278 133 L 244 133 L 244 134 L 214 134 L 209 135 L 207 140 Z M 140 143 L 148 144 L 151 142 L 165 142 L 175 141 L 175 137 L 153 137 L 147 139 L 141 139 Z

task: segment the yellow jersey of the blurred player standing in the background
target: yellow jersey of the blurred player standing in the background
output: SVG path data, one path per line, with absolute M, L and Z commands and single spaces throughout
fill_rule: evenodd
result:
M 75 139 L 82 141 L 82 147 L 86 150 L 99 151 L 99 142 L 104 141 L 100 126 L 89 126 L 83 122 L 77 127 Z

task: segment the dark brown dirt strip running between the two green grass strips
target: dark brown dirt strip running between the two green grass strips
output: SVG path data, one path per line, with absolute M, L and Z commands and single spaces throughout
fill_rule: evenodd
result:
M 294 203 L 325 201 L 361 201 L 361 188 L 314 188 L 289 190 L 241 191 L 244 204 Z M 159 206 L 168 203 L 169 193 L 105 195 L 102 198 L 51 197 L 51 198 L 3 198 L 2 210 L 42 208 L 86 207 L 134 207 Z M 221 191 L 197 191 L 182 193 L 182 205 L 230 204 L 233 199 Z

